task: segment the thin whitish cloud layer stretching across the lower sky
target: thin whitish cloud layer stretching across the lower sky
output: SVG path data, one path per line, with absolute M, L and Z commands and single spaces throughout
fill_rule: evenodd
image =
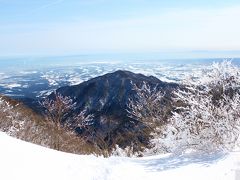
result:
M 236 17 L 240 17 L 240 6 L 169 9 L 119 20 L 14 24 L 0 28 L 0 53 L 208 50 L 239 55 L 240 25 Z

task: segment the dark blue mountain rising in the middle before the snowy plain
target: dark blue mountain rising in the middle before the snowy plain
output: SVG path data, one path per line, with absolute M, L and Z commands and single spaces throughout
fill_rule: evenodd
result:
M 171 92 L 179 87 L 176 83 L 163 82 L 154 76 L 118 70 L 78 85 L 61 87 L 55 93 L 73 99 L 76 108 L 71 112 L 72 116 L 84 110 L 86 115 L 93 115 L 90 131 L 97 134 L 96 136 L 101 136 L 108 142 L 108 146 L 118 144 L 127 147 L 139 142 L 146 146 L 150 136 L 149 133 L 143 135 L 145 125 L 130 117 L 128 113 L 129 100 L 137 98 L 136 87 L 140 89 L 144 85 L 152 90 L 161 91 L 167 101 L 170 101 Z M 54 93 L 47 98 L 54 99 Z M 86 129 L 78 126 L 74 128 L 80 135 L 90 136 Z M 129 138 L 129 134 L 132 139 Z M 114 142 L 116 139 L 121 140 Z

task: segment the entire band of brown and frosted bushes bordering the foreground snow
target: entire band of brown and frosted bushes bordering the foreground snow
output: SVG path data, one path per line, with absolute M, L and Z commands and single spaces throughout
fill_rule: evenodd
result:
M 84 128 L 91 135 L 88 122 L 93 116 L 86 116 L 85 111 L 70 115 L 76 108 L 73 100 L 58 93 L 42 102 L 45 117 L 0 97 L 0 130 L 57 150 L 104 156 L 231 150 L 239 146 L 239 70 L 229 61 L 215 63 L 200 76 L 186 78 L 171 95 L 145 83 L 135 86 L 136 99 L 129 99 L 127 113 L 143 125 L 142 133 L 150 139 L 149 147 L 139 144 L 139 152 L 134 146 L 109 147 L 98 134 L 87 143 L 90 140 L 77 135 L 74 128 Z

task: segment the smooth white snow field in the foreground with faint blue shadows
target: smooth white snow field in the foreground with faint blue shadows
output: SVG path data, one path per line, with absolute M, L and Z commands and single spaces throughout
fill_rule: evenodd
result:
M 74 155 L 0 133 L 0 179 L 240 180 L 240 152 L 144 158 Z

